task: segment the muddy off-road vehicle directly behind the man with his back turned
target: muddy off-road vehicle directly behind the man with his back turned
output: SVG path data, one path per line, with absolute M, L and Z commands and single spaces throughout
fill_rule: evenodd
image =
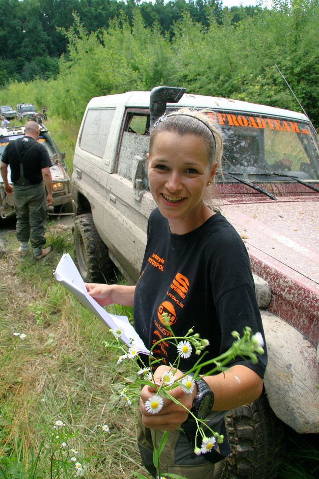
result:
M 39 125 L 40 135 L 38 138 L 39 143 L 48 150 L 52 167 L 50 168 L 53 182 L 53 208 L 55 213 L 59 213 L 62 210 L 64 212 L 72 211 L 72 195 L 70 188 L 70 178 L 66 172 L 66 165 L 63 161 L 65 158 L 64 153 L 60 153 L 56 144 L 54 143 L 49 130 L 44 125 Z M 0 159 L 4 148 L 9 141 L 18 140 L 25 134 L 25 127 L 8 127 L 5 129 L 0 128 Z M 8 180 L 11 184 L 11 171 L 8 167 Z M 0 218 L 6 218 L 8 216 L 15 215 L 15 209 L 13 205 L 13 196 L 6 195 L 2 178 L 0 177 Z

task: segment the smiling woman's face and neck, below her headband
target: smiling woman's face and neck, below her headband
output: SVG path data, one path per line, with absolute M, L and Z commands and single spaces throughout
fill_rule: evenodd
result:
M 203 196 L 217 164 L 210 168 L 201 137 L 159 133 L 147 155 L 147 165 L 150 191 L 172 233 L 184 234 L 203 224 L 211 211 Z

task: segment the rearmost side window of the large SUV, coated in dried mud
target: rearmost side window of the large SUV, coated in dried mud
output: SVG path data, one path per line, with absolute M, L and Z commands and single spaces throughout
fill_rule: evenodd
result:
M 103 158 L 115 108 L 94 108 L 87 111 L 81 136 L 80 148 Z

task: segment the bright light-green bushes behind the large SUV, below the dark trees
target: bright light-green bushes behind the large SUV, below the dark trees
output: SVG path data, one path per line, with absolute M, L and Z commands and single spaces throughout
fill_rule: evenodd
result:
M 319 0 L 274 0 L 271 9 L 239 15 L 238 23 L 224 9 L 222 23 L 212 13 L 208 26 L 184 12 L 170 33 L 156 22 L 146 26 L 138 9 L 98 34 L 73 17 L 71 28 L 59 29 L 69 47 L 56 79 L 15 81 L 0 90 L 1 104 L 45 103 L 49 112 L 79 123 L 93 96 L 172 85 L 301 111 L 278 65 L 319 126 Z

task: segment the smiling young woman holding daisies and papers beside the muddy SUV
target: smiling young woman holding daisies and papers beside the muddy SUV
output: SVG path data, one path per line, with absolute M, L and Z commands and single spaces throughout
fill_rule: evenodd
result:
M 195 332 L 209 340 L 211 358 L 231 346 L 232 331 L 242 334 L 250 326 L 254 333 L 263 332 L 247 251 L 232 225 L 209 205 L 222 150 L 221 134 L 205 112 L 182 109 L 161 117 L 151 131 L 147 154 L 150 191 L 158 208 L 150 215 L 140 278 L 136 286 L 87 284 L 89 294 L 101 305 L 134 307 L 134 327 L 149 348 L 169 336 L 161 323 L 162 312 L 168 313 L 176 336 L 195 326 Z M 149 261 L 154 257 L 156 261 Z M 160 384 L 163 372 L 176 359 L 176 348 L 163 341 L 155 356 L 162 363 L 154 373 Z M 197 359 L 194 354 L 182 359 L 176 376 Z M 204 416 L 220 433 L 224 433 L 227 410 L 260 395 L 266 354 L 257 364 L 235 358 L 229 366 L 225 373 L 213 376 L 201 371 L 203 380 L 196 381 L 191 394 L 180 387 L 171 391 L 187 409 L 201 414 L 207 406 L 203 396 L 208 394 Z M 160 441 L 161 431 L 168 430 L 160 457 L 161 475 L 213 478 L 213 464 L 229 453 L 226 437 L 212 452 L 195 454 L 194 422 L 187 419 L 183 407 L 167 399 L 158 414 L 149 413 L 145 402 L 154 391 L 145 386 L 139 401 L 138 444 L 145 467 L 156 477 L 154 431 L 159 431 Z

